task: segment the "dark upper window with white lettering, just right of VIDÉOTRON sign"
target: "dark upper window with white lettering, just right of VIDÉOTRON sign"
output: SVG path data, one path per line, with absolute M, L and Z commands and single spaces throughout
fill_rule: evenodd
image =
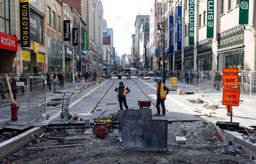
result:
M 42 18 L 33 11 L 30 11 L 30 40 L 43 44 L 43 22 Z

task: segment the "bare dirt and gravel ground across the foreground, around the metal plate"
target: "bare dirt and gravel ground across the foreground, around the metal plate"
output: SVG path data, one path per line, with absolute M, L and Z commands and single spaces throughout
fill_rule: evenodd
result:
M 175 122 L 168 124 L 167 148 L 169 152 L 159 149 L 121 148 L 117 137 L 106 136 L 104 140 L 94 135 L 83 134 L 85 129 L 71 129 L 48 132 L 39 144 L 30 147 L 45 147 L 54 145 L 85 144 L 73 148 L 53 148 L 44 150 L 20 150 L 6 158 L 4 164 L 117 164 L 117 163 L 207 163 L 207 164 L 237 164 L 256 163 L 240 149 L 230 148 L 223 142 L 213 124 L 203 121 Z M 58 141 L 51 137 L 86 137 L 86 140 Z M 176 144 L 176 136 L 185 136 L 188 144 Z M 232 153 L 233 152 L 233 153 Z M 234 153 L 235 152 L 235 153 Z

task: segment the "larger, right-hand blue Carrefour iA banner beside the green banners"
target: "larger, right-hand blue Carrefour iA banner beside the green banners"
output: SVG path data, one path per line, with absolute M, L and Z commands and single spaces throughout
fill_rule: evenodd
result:
M 181 51 L 182 42 L 182 6 L 178 6 L 177 11 L 177 50 Z

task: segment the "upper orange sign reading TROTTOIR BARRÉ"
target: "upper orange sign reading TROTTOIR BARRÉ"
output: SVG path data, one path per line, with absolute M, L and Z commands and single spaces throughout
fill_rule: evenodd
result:
M 222 83 L 223 86 L 238 86 L 238 69 L 237 68 L 223 68 L 222 69 Z

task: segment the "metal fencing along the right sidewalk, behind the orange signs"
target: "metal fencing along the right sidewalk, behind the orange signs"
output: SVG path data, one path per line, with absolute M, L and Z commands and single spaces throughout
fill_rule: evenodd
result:
M 162 77 L 162 71 L 152 71 L 148 75 L 153 78 Z M 172 77 L 176 77 L 180 83 L 193 85 L 200 89 L 223 90 L 222 71 L 167 71 L 167 84 L 171 83 Z M 256 102 L 256 71 L 238 71 L 238 88 L 240 88 L 242 97 Z

